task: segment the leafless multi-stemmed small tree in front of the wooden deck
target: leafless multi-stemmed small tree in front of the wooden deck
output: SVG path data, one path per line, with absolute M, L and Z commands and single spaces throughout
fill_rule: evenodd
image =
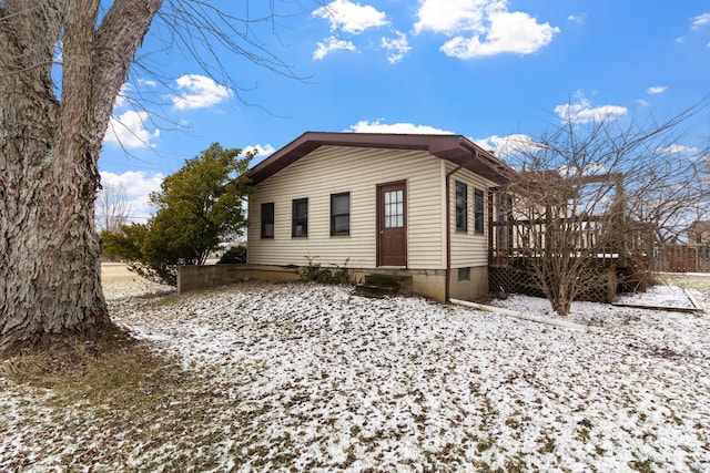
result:
M 653 246 L 708 212 L 700 176 L 708 148 L 679 144 L 681 126 L 704 105 L 662 123 L 568 116 L 517 147 L 511 164 L 520 172 L 501 189 L 510 197 L 496 210 L 506 222 L 496 224 L 494 246 L 526 260 L 555 311 L 567 315 L 572 300 L 606 290 L 618 268 L 645 277 Z

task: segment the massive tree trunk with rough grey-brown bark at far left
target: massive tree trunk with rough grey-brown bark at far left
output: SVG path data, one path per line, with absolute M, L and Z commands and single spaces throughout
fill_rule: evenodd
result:
M 111 328 L 94 228 L 113 101 L 160 0 L 0 3 L 0 353 Z M 61 100 L 54 45 L 63 42 Z

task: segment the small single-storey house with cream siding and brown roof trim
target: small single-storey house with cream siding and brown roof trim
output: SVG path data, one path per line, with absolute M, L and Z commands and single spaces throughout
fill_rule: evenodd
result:
M 506 172 L 460 135 L 304 133 L 248 173 L 247 264 L 392 273 L 416 294 L 476 298 Z

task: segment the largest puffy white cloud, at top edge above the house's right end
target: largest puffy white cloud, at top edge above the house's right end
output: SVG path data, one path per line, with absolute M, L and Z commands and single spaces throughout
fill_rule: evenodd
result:
M 508 11 L 507 0 L 422 0 L 417 16 L 414 31 L 452 37 L 442 51 L 459 59 L 530 54 L 560 31 L 528 13 Z

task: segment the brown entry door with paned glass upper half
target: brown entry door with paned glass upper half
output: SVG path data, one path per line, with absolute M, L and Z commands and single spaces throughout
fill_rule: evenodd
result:
M 377 186 L 377 265 L 407 266 L 406 183 Z

